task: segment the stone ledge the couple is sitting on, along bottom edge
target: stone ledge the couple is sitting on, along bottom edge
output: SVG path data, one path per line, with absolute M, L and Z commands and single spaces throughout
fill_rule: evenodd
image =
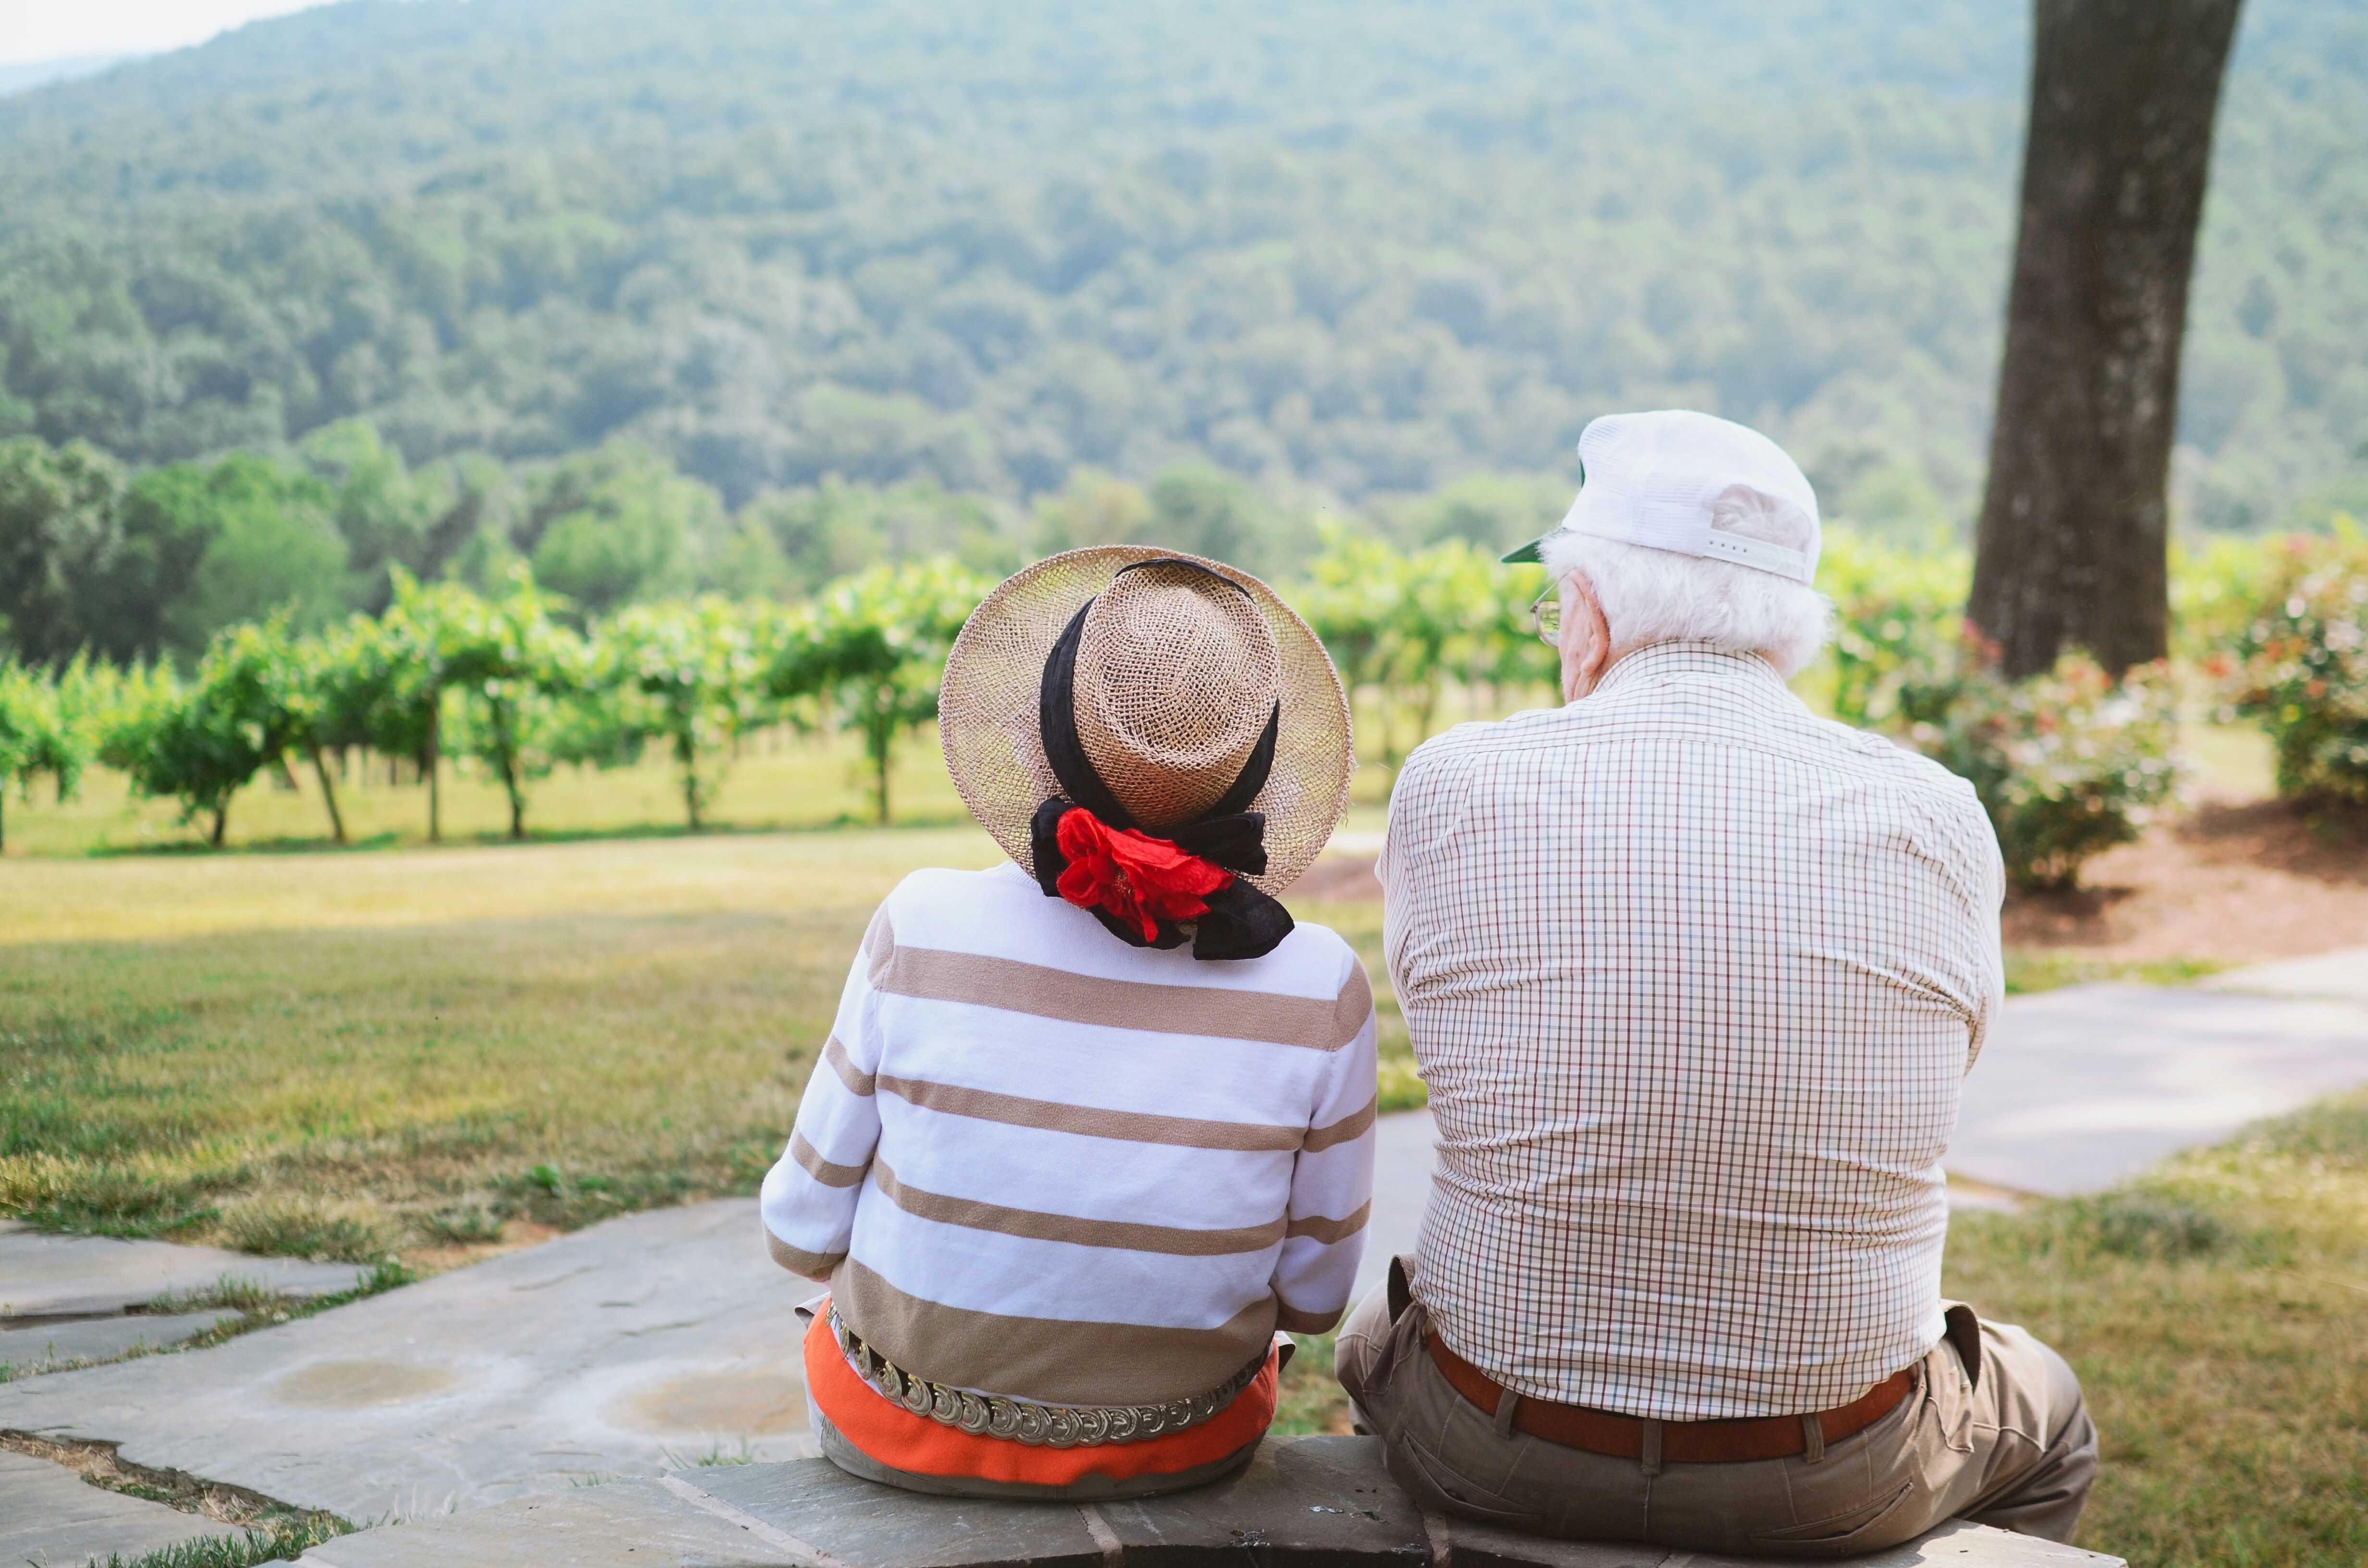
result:
M 736 1535 L 718 1535 L 718 1525 Z M 1426 1516 L 1373 1438 L 1281 1438 L 1224 1483 L 1175 1497 L 1023 1504 L 921 1497 L 822 1459 L 715 1466 L 348 1535 L 315 1568 L 796 1563 L 800 1568 L 1759 1568 L 1660 1547 L 1549 1542 Z M 1951 1523 L 1861 1568 L 2112 1568 L 2119 1559 Z

